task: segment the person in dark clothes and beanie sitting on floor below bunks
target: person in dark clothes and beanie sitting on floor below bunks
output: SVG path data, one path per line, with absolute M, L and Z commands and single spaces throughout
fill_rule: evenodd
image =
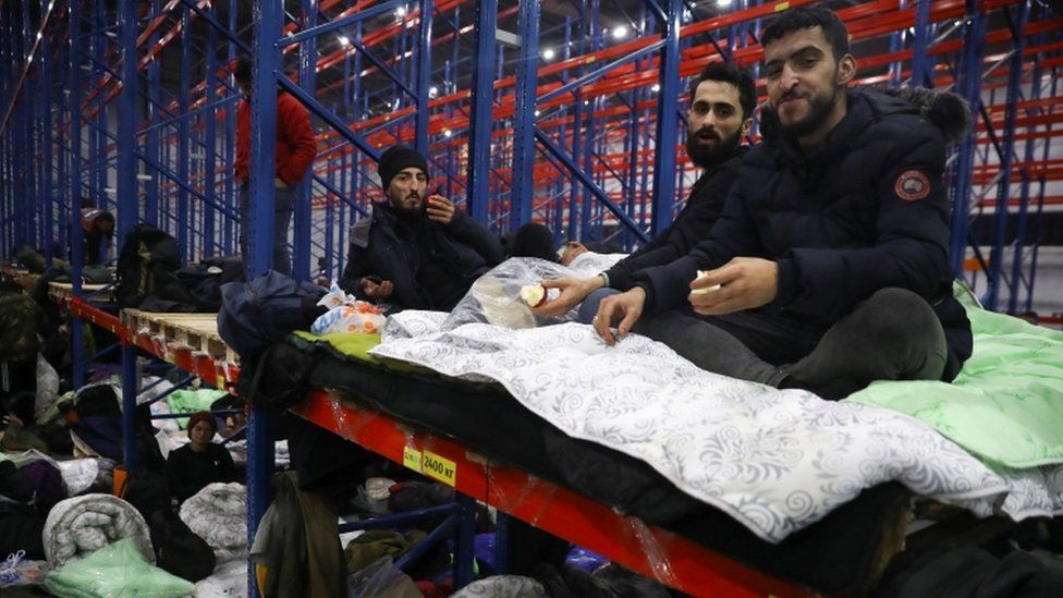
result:
M 217 423 L 209 411 L 193 414 L 188 418 L 188 443 L 167 459 L 167 479 L 178 502 L 188 500 L 208 484 L 233 480 L 232 455 L 211 441 L 216 431 Z

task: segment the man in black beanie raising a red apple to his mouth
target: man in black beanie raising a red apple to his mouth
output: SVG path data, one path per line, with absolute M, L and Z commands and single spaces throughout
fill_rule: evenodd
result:
M 480 274 L 502 261 L 491 234 L 452 202 L 428 193 L 428 162 L 396 145 L 380 156 L 386 200 L 351 229 L 340 285 L 359 298 L 449 312 Z

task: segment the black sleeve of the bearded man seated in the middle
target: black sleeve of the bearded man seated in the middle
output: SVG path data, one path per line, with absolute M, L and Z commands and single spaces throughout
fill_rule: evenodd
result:
M 735 148 L 725 160 L 705 171 L 691 187 L 691 195 L 683 210 L 664 232 L 606 271 L 609 285 L 626 291 L 632 276 L 638 270 L 679 259 L 704 241 L 723 211 L 723 202 L 738 176 L 738 163 L 747 149 Z

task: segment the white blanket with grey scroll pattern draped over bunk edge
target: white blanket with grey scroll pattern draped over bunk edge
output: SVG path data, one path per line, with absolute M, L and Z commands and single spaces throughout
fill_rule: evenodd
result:
M 913 417 L 709 374 L 638 335 L 608 347 L 578 324 L 442 330 L 444 317 L 392 316 L 371 353 L 497 381 L 569 436 L 645 461 L 768 541 L 889 480 L 1014 518 L 1049 514 L 1044 495 L 1063 487 L 1060 469 L 1001 474 Z

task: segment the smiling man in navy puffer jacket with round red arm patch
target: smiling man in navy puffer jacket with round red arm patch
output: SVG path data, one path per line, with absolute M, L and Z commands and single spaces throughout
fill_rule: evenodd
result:
M 777 138 L 746 156 L 709 239 L 604 300 L 598 332 L 613 343 L 613 318 L 622 337 L 646 309 L 636 331 L 705 369 L 828 399 L 952 380 L 972 338 L 951 293 L 943 131 L 911 101 L 847 89 L 856 62 L 828 10 L 783 13 L 762 44 Z M 933 98 L 929 120 L 948 124 L 950 98 Z

